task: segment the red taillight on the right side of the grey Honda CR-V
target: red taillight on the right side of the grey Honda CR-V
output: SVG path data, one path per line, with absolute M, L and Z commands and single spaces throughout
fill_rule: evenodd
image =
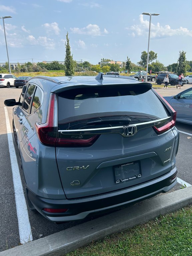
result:
M 168 131 L 169 129 L 171 129 L 173 126 L 175 126 L 175 123 L 176 123 L 176 114 L 177 112 L 171 107 L 171 105 L 159 94 L 157 93 L 161 99 L 166 103 L 166 105 L 169 106 L 170 108 L 170 112 L 171 112 L 171 117 L 172 117 L 172 120 L 165 123 L 165 124 L 161 124 L 161 126 L 153 126 L 153 129 L 155 130 L 155 132 L 157 134 L 161 134 L 161 133 L 164 133 L 166 131 Z

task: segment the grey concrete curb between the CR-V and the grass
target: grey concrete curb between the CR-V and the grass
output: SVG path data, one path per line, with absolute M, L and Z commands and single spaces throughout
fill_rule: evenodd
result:
M 107 235 L 121 232 L 192 204 L 192 186 L 105 215 L 47 237 L 0 252 L 0 256 L 61 256 Z

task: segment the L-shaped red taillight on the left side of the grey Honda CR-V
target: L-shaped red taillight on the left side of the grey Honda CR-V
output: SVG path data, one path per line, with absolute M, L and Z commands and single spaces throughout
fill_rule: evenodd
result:
M 45 124 L 35 123 L 36 133 L 42 144 L 56 147 L 89 147 L 100 135 L 71 135 L 59 137 L 57 126 L 57 95 L 52 93 Z

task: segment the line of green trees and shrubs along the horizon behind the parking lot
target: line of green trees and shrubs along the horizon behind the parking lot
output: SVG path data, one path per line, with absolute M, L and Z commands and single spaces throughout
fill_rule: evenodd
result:
M 136 72 L 141 69 L 146 69 L 147 66 L 147 52 L 143 51 L 141 53 L 141 59 L 137 64 L 131 62 L 127 57 L 127 60 L 123 62 L 123 67 L 120 68 L 119 64 L 110 64 L 105 63 L 111 61 L 110 59 L 101 59 L 100 65 L 93 65 L 88 61 L 77 63 L 73 60 L 73 55 L 71 54 L 71 48 L 69 43 L 68 32 L 66 34 L 66 43 L 65 43 L 65 61 L 64 64 L 60 64 L 58 61 L 52 61 L 51 63 L 38 62 L 35 65 L 31 62 L 27 62 L 23 65 L 17 64 L 15 67 L 15 72 L 46 72 L 49 70 L 64 70 L 66 76 L 74 75 L 75 72 L 81 71 L 95 71 L 95 72 L 119 72 L 121 70 L 128 70 L 128 73 L 131 71 Z M 103 62 L 103 63 L 102 63 Z M 5 67 L 0 67 L 0 71 L 7 72 L 9 70 L 8 63 L 6 62 Z M 163 63 L 160 63 L 157 60 L 157 53 L 154 51 L 149 52 L 149 64 L 148 72 L 152 70 L 152 73 L 157 73 L 159 71 L 169 71 L 180 75 L 183 73 L 186 74 L 187 71 L 192 71 L 192 61 L 186 60 L 186 52 L 180 51 L 179 58 L 177 63 L 164 66 Z

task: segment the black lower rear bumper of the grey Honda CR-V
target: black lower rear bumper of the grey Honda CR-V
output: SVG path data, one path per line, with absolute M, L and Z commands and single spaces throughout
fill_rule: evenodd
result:
M 89 214 L 121 208 L 146 198 L 165 193 L 177 183 L 177 168 L 154 180 L 123 190 L 77 199 L 47 199 L 33 194 L 27 189 L 28 199 L 45 218 L 54 222 L 84 219 Z M 174 178 L 175 177 L 175 178 Z M 65 213 L 48 213 L 43 208 L 63 209 Z

